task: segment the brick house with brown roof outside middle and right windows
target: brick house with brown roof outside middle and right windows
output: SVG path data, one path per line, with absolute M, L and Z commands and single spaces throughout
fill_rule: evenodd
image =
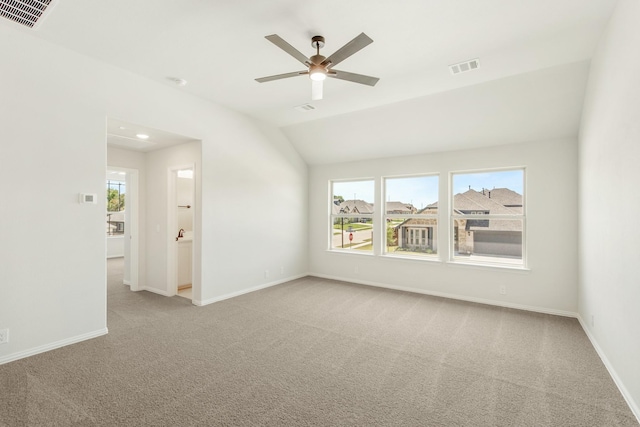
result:
M 519 215 L 522 195 L 508 188 L 469 189 L 453 196 L 454 211 L 461 215 Z M 420 213 L 437 214 L 432 203 Z M 437 250 L 435 218 L 412 218 L 396 229 L 399 247 L 411 250 Z M 520 220 L 456 219 L 454 251 L 457 255 L 522 257 L 522 222 Z

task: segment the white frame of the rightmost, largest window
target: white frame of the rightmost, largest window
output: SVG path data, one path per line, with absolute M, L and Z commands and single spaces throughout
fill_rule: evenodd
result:
M 455 175 L 467 175 L 467 174 L 480 174 L 487 172 L 509 172 L 509 171 L 522 171 L 522 213 L 521 214 L 513 214 L 513 215 L 497 215 L 491 213 L 473 213 L 473 214 L 456 214 L 454 211 L 454 188 L 453 188 L 453 177 Z M 486 266 L 494 266 L 501 268 L 513 268 L 513 269 L 527 269 L 527 221 L 526 221 L 526 210 L 527 210 L 527 170 L 524 166 L 514 166 L 508 168 L 500 168 L 500 169 L 473 169 L 473 170 L 465 170 L 465 171 L 455 171 L 449 173 L 449 262 L 457 263 L 457 264 L 471 264 L 471 265 L 486 265 Z M 470 260 L 465 259 L 462 256 L 455 255 L 455 224 L 456 220 L 473 220 L 480 219 L 483 221 L 487 220 L 520 220 L 522 221 L 522 259 L 521 262 L 516 262 L 516 259 L 513 261 L 507 261 L 505 258 L 504 261 L 500 261 L 499 257 L 494 257 L 493 260 Z M 460 232 L 460 231 L 459 231 Z M 463 230 L 464 232 L 464 230 Z

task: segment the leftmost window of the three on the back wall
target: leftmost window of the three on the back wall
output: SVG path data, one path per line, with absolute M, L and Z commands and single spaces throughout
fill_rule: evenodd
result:
M 331 183 L 331 249 L 373 253 L 374 182 Z

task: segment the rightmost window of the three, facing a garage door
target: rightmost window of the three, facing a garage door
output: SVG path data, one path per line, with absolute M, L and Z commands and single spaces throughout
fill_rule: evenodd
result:
M 452 174 L 451 258 L 524 266 L 524 169 Z

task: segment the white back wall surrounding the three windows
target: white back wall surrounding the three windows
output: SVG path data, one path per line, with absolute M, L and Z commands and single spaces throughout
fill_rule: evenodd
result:
M 327 251 L 328 182 L 440 173 L 440 206 L 446 206 L 450 171 L 525 166 L 529 271 L 471 267 L 446 262 Z M 577 311 L 577 141 L 539 141 L 479 150 L 319 165 L 310 168 L 310 272 L 365 284 L 399 287 L 529 308 L 551 313 Z M 447 209 L 439 213 L 440 256 L 446 259 Z M 355 273 L 355 267 L 359 273 Z M 507 295 L 499 287 L 507 287 Z

